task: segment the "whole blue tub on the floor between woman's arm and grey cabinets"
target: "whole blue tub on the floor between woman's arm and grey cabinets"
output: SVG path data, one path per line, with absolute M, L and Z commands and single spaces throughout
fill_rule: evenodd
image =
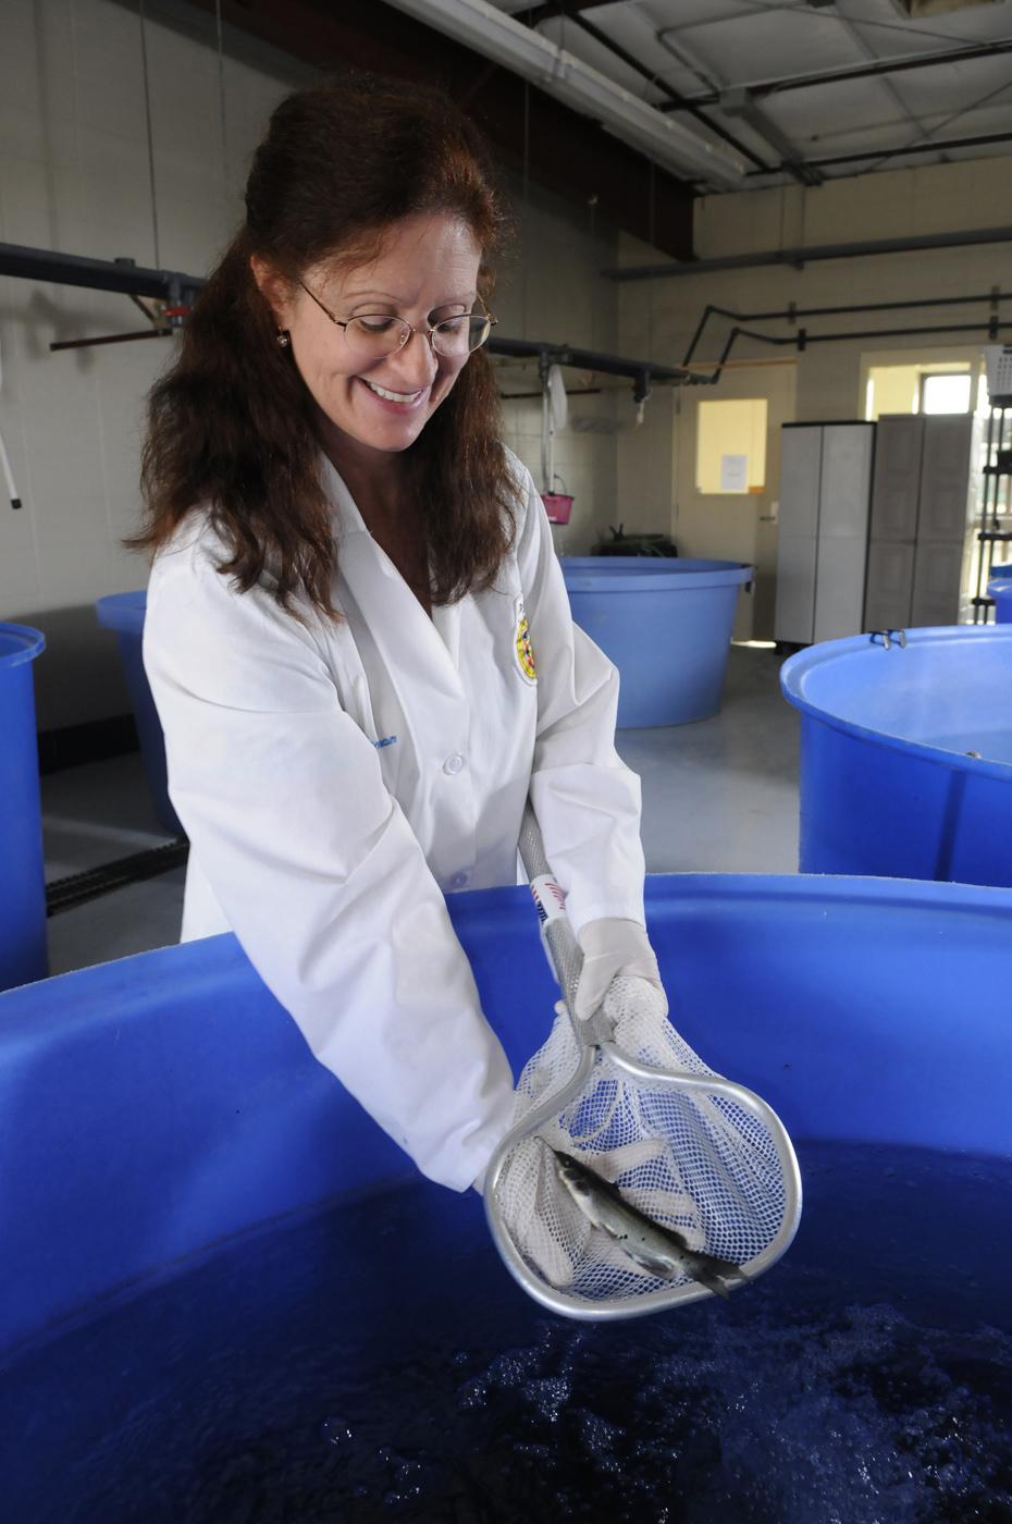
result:
M 573 619 L 619 668 L 619 725 L 686 725 L 721 707 L 739 561 L 565 556 Z

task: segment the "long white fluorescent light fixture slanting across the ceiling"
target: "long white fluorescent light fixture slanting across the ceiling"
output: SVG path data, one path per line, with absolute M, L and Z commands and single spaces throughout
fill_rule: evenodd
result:
M 488 0 L 387 0 L 427 26 L 465 43 L 497 64 L 541 85 L 614 137 L 671 169 L 672 174 L 738 187 L 744 162 L 722 145 L 710 145 L 680 122 L 614 84 L 575 53 L 556 47 L 529 26 L 514 21 Z

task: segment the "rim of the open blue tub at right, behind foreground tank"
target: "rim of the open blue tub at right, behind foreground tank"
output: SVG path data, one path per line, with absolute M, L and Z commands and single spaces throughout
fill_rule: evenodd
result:
M 930 645 L 966 639 L 1012 642 L 1012 625 L 925 625 L 907 629 L 905 636 L 908 645 Z M 887 751 L 902 751 L 921 762 L 943 767 L 950 771 L 972 773 L 975 777 L 994 777 L 1007 783 L 1012 779 L 1012 764 L 1009 762 L 969 757 L 962 751 L 946 751 L 943 747 L 930 747 L 924 741 L 907 741 L 904 736 L 892 736 L 884 730 L 872 730 L 855 719 L 844 719 L 841 715 L 834 715 L 832 710 L 821 709 L 803 696 L 800 684 L 812 668 L 840 660 L 841 657 L 855 655 L 858 651 L 867 651 L 872 643 L 873 637 L 870 634 L 844 636 L 841 640 L 821 640 L 814 646 L 808 646 L 806 651 L 797 651 L 793 657 L 788 657 L 780 668 L 780 692 L 788 704 L 793 704 L 794 709 L 811 719 L 818 719 L 823 725 L 829 725 L 831 730 L 838 730 L 840 735 L 857 736 L 870 745 L 882 747 Z M 878 643 L 881 645 L 881 642 Z

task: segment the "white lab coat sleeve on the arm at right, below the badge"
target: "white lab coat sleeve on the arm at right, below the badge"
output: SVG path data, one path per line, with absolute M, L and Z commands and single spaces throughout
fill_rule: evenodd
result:
M 640 780 L 614 748 L 619 674 L 573 625 L 544 503 L 520 469 L 517 558 L 538 674 L 530 800 L 573 930 L 602 916 L 645 925 Z

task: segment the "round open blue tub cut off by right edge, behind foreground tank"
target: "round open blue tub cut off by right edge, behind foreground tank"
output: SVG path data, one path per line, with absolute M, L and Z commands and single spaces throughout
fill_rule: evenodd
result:
M 802 712 L 803 873 L 1012 884 L 1012 629 L 828 640 L 780 686 Z

